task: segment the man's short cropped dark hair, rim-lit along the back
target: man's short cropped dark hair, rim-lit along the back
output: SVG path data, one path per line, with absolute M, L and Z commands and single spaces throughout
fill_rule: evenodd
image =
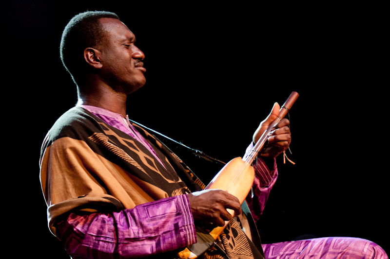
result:
M 60 58 L 75 83 L 75 77 L 80 72 L 85 71 L 84 50 L 89 47 L 94 48 L 104 37 L 104 31 L 99 22 L 100 18 L 119 20 L 117 14 L 112 12 L 87 11 L 73 17 L 62 32 L 59 47 Z

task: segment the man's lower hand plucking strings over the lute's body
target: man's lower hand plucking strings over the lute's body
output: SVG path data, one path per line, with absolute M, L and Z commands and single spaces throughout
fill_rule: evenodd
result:
M 187 194 L 195 224 L 212 229 L 224 226 L 232 219 L 226 210 L 233 209 L 235 215 L 242 213 L 238 199 L 223 190 L 201 190 Z

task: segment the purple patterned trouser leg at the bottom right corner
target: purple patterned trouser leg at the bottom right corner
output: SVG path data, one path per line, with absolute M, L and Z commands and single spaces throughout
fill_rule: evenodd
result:
M 389 259 L 376 243 L 328 237 L 262 245 L 266 259 Z

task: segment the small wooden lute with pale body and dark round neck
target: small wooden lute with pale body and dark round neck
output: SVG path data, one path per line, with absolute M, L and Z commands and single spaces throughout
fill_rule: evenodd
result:
M 254 182 L 254 168 L 252 163 L 258 153 L 262 150 L 264 144 L 267 141 L 268 134 L 272 128 L 281 121 L 286 114 L 289 112 L 292 104 L 296 101 L 299 94 L 292 92 L 286 102 L 281 106 L 279 115 L 264 131 L 261 137 L 257 140 L 254 148 L 250 151 L 249 155 L 243 159 L 241 157 L 235 157 L 230 160 L 211 180 L 206 186 L 207 189 L 219 189 L 225 190 L 230 194 L 237 197 L 239 202 L 242 204 L 245 201 L 248 193 L 250 192 Z M 227 209 L 228 212 L 234 216 L 234 211 Z M 183 251 L 178 252 L 178 256 L 181 259 L 195 259 L 198 256 L 204 254 L 211 246 L 215 244 L 219 235 L 228 224 L 225 221 L 225 225 L 221 227 L 215 227 L 211 232 L 208 232 L 201 227 L 196 226 L 196 238 L 197 242 L 186 247 Z

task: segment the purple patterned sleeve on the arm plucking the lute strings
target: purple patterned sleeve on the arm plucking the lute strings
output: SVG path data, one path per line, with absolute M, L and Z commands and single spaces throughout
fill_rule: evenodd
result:
M 58 223 L 57 234 L 74 258 L 139 258 L 196 242 L 187 195 L 120 212 L 71 213 Z

